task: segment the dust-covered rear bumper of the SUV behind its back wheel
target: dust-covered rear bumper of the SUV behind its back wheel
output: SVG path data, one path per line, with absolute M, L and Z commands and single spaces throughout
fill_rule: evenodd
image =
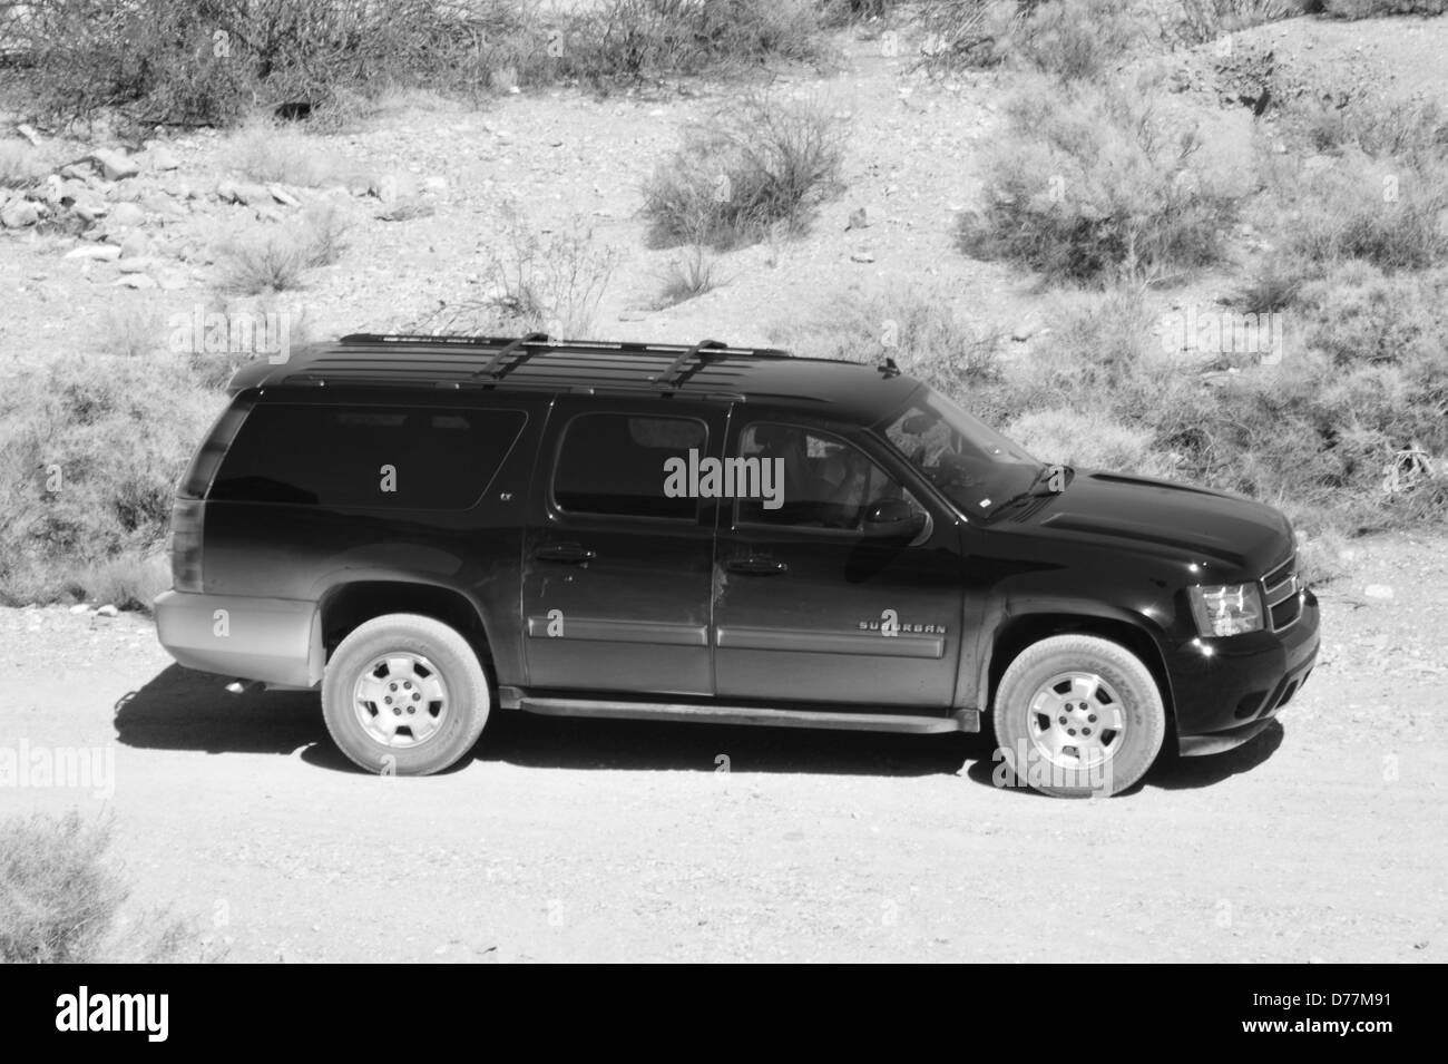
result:
M 187 669 L 295 688 L 321 679 L 314 602 L 168 591 L 153 609 L 161 646 Z

